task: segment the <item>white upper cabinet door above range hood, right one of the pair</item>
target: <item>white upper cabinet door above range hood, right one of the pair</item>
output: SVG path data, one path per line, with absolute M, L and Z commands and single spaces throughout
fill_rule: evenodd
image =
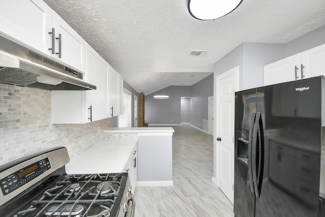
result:
M 54 30 L 54 36 L 52 31 Z M 48 26 L 45 52 L 80 71 L 86 70 L 86 41 L 53 11 L 53 25 Z M 52 47 L 54 45 L 54 53 Z M 49 50 L 50 48 L 50 50 Z

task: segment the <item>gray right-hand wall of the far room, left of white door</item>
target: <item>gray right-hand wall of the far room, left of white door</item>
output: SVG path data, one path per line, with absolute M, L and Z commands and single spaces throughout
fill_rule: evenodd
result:
M 208 97 L 213 96 L 213 74 L 191 86 L 191 125 L 203 129 L 208 119 Z

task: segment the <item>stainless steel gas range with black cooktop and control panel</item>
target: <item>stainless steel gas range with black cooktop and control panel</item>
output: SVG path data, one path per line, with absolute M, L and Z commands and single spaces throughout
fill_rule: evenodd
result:
M 127 173 L 66 174 L 65 147 L 0 166 L 1 216 L 134 216 Z

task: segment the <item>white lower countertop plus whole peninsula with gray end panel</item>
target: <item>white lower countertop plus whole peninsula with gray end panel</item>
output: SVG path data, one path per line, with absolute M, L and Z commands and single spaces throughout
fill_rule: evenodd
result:
M 71 159 L 66 172 L 128 172 L 133 186 L 173 185 L 173 132 L 171 127 L 109 128 L 101 142 Z

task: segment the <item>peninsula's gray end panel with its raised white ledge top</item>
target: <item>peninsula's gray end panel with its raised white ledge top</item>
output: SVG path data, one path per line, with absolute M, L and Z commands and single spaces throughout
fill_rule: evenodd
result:
M 106 139 L 138 138 L 137 185 L 173 185 L 171 127 L 109 128 Z

